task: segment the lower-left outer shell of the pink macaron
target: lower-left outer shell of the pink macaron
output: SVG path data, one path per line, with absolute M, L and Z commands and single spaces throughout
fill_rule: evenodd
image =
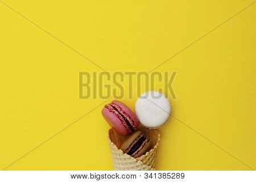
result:
M 125 126 L 121 123 L 120 119 L 116 117 L 113 113 L 111 113 L 108 109 L 104 107 L 102 109 L 102 115 L 106 119 L 106 121 L 109 123 L 109 125 L 117 131 L 122 136 L 128 135 L 130 132 L 126 129 Z

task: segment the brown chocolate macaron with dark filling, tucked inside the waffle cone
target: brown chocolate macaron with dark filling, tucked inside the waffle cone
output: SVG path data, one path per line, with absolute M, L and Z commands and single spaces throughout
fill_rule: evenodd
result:
M 138 158 L 146 154 L 150 147 L 150 139 L 146 138 L 142 131 L 136 131 L 122 143 L 120 149 L 128 155 Z

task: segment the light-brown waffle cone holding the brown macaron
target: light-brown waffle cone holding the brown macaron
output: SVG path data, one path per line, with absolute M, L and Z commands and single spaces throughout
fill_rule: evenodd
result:
M 152 142 L 151 150 L 139 158 L 133 158 L 130 155 L 123 154 L 123 151 L 119 149 L 123 141 L 128 137 L 123 137 L 115 132 L 113 129 L 109 130 L 109 147 L 112 155 L 113 166 L 115 170 L 122 171 L 152 171 L 155 170 L 156 152 L 158 150 L 160 134 L 156 130 L 150 130 L 146 128 L 139 128 L 143 131 L 147 138 L 150 138 Z

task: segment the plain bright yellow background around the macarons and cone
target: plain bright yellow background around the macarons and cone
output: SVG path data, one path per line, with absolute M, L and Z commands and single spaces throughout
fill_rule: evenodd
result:
M 0 168 L 104 101 L 78 99 L 79 71 L 101 69 L 46 31 L 111 73 L 150 71 L 251 2 L 1 0 Z M 174 115 L 254 169 L 255 12 L 256 3 L 155 70 L 177 71 Z M 122 101 L 134 109 L 136 99 L 126 86 Z M 5 169 L 112 170 L 102 107 Z M 175 118 L 159 131 L 156 169 L 251 170 Z

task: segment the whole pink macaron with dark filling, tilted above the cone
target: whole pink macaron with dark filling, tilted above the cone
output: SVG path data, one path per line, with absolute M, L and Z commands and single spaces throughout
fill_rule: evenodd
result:
M 105 105 L 102 115 L 109 125 L 123 136 L 133 133 L 139 125 L 139 120 L 133 111 L 117 100 Z

